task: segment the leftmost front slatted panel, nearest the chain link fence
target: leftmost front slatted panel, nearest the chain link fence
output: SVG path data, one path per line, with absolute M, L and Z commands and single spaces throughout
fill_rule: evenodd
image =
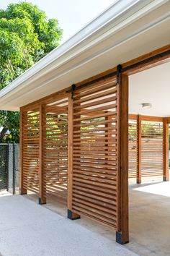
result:
M 38 194 L 40 111 L 24 111 L 22 127 L 23 187 Z

